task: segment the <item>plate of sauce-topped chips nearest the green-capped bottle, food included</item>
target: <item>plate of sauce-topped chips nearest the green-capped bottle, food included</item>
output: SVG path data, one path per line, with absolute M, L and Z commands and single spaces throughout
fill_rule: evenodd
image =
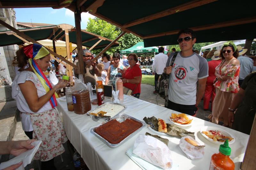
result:
M 200 133 L 214 144 L 223 144 L 225 140 L 228 140 L 229 144 L 235 142 L 235 137 L 231 133 L 214 126 L 204 126 L 200 129 Z

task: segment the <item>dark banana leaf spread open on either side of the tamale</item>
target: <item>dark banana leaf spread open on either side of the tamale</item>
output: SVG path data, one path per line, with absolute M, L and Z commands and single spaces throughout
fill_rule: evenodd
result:
M 148 122 L 152 122 L 153 125 L 155 126 L 155 128 L 152 128 L 156 131 L 158 131 L 158 120 L 156 119 L 155 116 L 153 117 L 144 117 L 143 120 L 148 124 Z M 185 136 L 190 136 L 190 137 L 193 137 L 195 139 L 195 132 L 189 132 L 185 129 L 182 129 L 176 125 L 171 125 L 169 123 L 166 123 L 167 125 L 167 135 L 169 136 L 172 136 L 172 137 L 178 137 L 178 138 L 181 138 L 181 137 L 185 137 Z

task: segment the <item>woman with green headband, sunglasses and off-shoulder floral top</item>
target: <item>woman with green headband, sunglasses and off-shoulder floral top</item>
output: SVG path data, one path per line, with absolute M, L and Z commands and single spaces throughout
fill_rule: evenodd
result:
M 212 114 L 208 118 L 213 123 L 223 122 L 223 126 L 231 126 L 228 121 L 228 109 L 235 94 L 239 91 L 238 77 L 240 63 L 237 60 L 238 50 L 233 42 L 226 42 L 221 48 L 222 61 L 216 67 L 213 83 L 216 96 L 212 103 Z

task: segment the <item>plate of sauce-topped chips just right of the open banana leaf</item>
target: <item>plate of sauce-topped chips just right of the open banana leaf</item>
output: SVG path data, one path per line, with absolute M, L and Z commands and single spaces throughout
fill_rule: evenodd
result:
M 187 127 L 192 125 L 193 116 L 184 113 L 172 113 L 172 115 L 169 117 L 169 120 L 172 122 L 172 124 L 177 126 Z

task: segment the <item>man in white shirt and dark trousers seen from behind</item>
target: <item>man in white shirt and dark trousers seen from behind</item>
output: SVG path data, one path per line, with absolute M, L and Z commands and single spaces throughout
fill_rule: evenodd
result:
M 163 73 L 164 67 L 168 59 L 168 56 L 164 54 L 164 47 L 159 47 L 158 53 L 159 54 L 155 55 L 155 59 L 152 64 L 152 71 L 153 74 L 155 74 L 155 91 L 153 92 L 154 94 L 157 94 L 156 85 L 158 82 L 158 78 Z

